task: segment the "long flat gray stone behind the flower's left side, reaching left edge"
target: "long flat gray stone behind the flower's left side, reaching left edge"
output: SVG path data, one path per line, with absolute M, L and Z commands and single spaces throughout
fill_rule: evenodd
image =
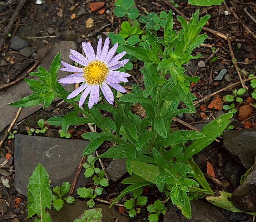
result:
M 44 60 L 40 63 L 40 66 L 43 66 L 46 70 L 49 70 L 51 61 L 55 57 L 55 55 L 58 52 L 61 52 L 61 61 L 65 61 L 70 64 L 74 64 L 72 60 L 69 58 L 69 50 L 70 49 L 77 50 L 77 44 L 73 41 L 61 41 L 59 43 L 55 43 L 50 50 L 48 51 L 47 55 L 45 56 Z M 41 50 L 38 50 L 38 54 L 41 56 L 45 52 L 46 48 L 43 48 Z M 37 68 L 34 69 L 33 72 L 37 72 Z M 24 73 L 21 73 L 21 75 Z M 65 76 L 68 76 L 69 74 L 72 74 L 71 72 L 65 72 L 65 71 L 58 71 L 58 79 L 63 78 Z M 28 78 L 32 78 L 31 76 L 28 76 Z M 35 77 L 35 79 L 37 79 Z M 65 89 L 67 91 L 73 91 L 75 84 L 70 84 L 68 86 L 65 86 Z M 5 88 L 5 90 L 0 92 L 0 110 L 8 110 L 8 112 L 1 112 L 0 115 L 0 132 L 8 126 L 14 119 L 17 111 L 19 108 L 11 107 L 7 103 L 15 102 L 25 96 L 28 96 L 32 93 L 31 89 L 29 88 L 29 85 L 25 81 L 20 81 L 13 86 L 10 86 L 8 88 Z M 32 113 L 36 112 L 40 108 L 42 108 L 43 105 L 34 105 L 32 107 L 25 107 L 21 110 L 21 113 L 18 117 L 17 122 L 20 120 L 28 117 Z

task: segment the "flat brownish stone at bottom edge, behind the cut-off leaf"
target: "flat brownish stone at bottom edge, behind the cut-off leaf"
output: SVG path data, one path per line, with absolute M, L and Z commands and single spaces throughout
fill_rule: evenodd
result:
M 97 201 L 95 201 L 97 203 Z M 114 207 L 109 208 L 108 205 L 96 204 L 93 208 L 102 208 L 103 222 L 113 222 L 118 218 L 118 222 L 128 222 L 129 217 L 125 217 L 118 213 Z M 75 199 L 72 204 L 68 204 L 64 201 L 63 207 L 59 211 L 48 210 L 51 220 L 54 222 L 73 222 L 75 218 L 78 218 L 89 207 L 86 205 L 86 201 Z

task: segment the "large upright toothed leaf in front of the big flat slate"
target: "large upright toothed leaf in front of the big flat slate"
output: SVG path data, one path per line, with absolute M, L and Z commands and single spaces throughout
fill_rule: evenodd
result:
M 44 218 L 40 222 L 51 222 L 46 208 L 51 209 L 51 189 L 49 175 L 41 164 L 38 164 L 29 178 L 28 185 L 28 218 L 37 214 Z M 38 220 L 39 221 L 39 220 Z

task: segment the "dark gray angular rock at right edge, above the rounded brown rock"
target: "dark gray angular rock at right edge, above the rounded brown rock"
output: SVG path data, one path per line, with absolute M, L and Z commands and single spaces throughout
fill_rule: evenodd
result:
M 223 144 L 232 154 L 237 155 L 242 165 L 249 169 L 255 161 L 256 128 L 225 130 Z

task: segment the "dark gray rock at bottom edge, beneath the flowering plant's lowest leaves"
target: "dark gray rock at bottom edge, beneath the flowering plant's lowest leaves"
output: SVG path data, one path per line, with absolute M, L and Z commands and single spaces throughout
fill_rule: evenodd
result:
M 190 219 L 182 215 L 181 211 L 171 201 L 167 203 L 167 212 L 163 222 L 228 222 L 228 219 L 221 211 L 200 200 L 193 200 L 191 203 L 192 217 Z

